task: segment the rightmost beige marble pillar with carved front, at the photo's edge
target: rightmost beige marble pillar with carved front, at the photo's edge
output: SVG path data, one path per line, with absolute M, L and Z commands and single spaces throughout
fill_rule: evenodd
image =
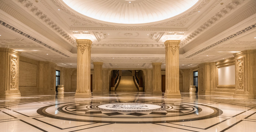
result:
M 235 56 L 234 98 L 256 98 L 256 49 L 245 50 Z

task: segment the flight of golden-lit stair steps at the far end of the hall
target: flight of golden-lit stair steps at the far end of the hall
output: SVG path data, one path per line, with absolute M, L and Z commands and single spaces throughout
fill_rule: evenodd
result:
M 138 91 L 132 76 L 122 76 L 116 91 Z

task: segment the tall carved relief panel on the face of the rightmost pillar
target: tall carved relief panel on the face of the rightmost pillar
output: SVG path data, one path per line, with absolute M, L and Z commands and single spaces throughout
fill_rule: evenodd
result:
M 237 62 L 237 89 L 243 89 L 244 85 L 243 85 L 243 77 L 244 77 L 244 65 L 243 65 L 243 58 L 239 58 L 236 60 Z

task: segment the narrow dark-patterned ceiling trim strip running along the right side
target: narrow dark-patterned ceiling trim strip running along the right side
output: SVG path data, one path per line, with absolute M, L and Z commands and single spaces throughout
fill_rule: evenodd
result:
M 203 48 L 203 49 L 201 49 L 201 50 L 199 50 L 199 51 L 197 51 L 197 52 L 195 52 L 195 53 L 193 53 L 193 54 L 191 54 L 189 56 L 186 56 L 185 58 L 191 58 L 192 56 L 197 55 L 197 54 L 199 54 L 199 53 L 201 53 L 201 52 L 203 52 L 203 51 L 205 51 L 207 49 L 210 49 L 210 48 L 212 48 L 212 47 L 214 47 L 214 46 L 216 46 L 216 45 L 218 45 L 220 43 L 223 43 L 223 42 L 229 40 L 230 38 L 237 37 L 237 36 L 239 36 L 242 33 L 248 32 L 250 29 L 254 29 L 255 27 L 256 27 L 256 23 L 251 25 L 251 26 L 249 26 L 249 27 L 246 27 L 245 29 L 243 29 L 243 30 L 241 30 L 241 31 L 239 31 L 237 33 L 234 33 L 234 34 L 232 34 L 232 35 L 230 35 L 228 37 L 225 37 L 222 40 L 217 41 L 216 43 L 211 44 L 211 45 L 209 45 L 209 46 L 207 46 L 207 47 L 205 47 L 205 48 Z

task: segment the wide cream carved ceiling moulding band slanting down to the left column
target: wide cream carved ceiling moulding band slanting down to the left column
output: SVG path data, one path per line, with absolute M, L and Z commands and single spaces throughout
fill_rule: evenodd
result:
M 75 40 L 71 36 L 68 35 L 68 33 L 66 33 L 63 29 L 60 28 L 60 26 L 58 26 L 56 23 L 51 21 L 51 19 L 48 18 L 47 15 L 45 15 L 42 11 L 38 10 L 38 7 L 33 6 L 33 3 L 31 3 L 30 1 L 26 1 L 26 0 L 18 0 L 18 1 L 19 1 L 19 3 L 23 4 L 25 8 L 28 8 L 29 11 L 32 12 L 35 16 L 39 17 L 42 22 L 46 23 L 52 29 L 54 29 L 64 39 L 66 39 L 67 41 L 69 41 L 72 44 L 75 44 L 75 45 L 77 44 L 75 42 Z

